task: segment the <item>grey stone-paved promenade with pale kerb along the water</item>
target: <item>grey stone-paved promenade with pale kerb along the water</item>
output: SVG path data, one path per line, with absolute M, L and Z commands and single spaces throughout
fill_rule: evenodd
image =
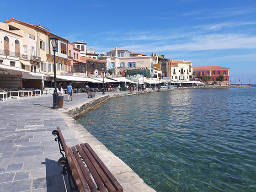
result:
M 96 93 L 96 99 L 101 96 Z M 57 127 L 61 128 L 69 146 L 88 142 L 100 157 L 106 157 L 103 162 L 127 192 L 139 188 L 154 192 L 122 160 L 65 113 L 70 107 L 90 102 L 92 99 L 88 99 L 87 94 L 74 94 L 74 101 L 69 102 L 64 95 L 64 108 L 59 110 L 50 109 L 52 100 L 50 95 L 0 101 L 0 192 L 69 191 L 67 178 L 62 176 L 62 169 L 56 162 L 61 155 L 52 131 Z

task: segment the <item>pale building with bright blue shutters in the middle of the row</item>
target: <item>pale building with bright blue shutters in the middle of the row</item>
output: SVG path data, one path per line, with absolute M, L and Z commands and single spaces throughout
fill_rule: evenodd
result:
M 115 69 L 116 74 L 125 74 L 127 70 L 149 70 L 153 76 L 153 58 L 142 53 L 133 53 L 123 48 L 115 48 L 107 52 L 106 56 L 99 57 L 107 62 L 107 69 Z

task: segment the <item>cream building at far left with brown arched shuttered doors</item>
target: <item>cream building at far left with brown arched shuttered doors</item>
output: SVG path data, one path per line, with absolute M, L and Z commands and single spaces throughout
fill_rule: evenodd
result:
M 29 60 L 23 53 L 23 31 L 0 22 L 0 88 L 22 87 L 22 72 L 30 72 Z

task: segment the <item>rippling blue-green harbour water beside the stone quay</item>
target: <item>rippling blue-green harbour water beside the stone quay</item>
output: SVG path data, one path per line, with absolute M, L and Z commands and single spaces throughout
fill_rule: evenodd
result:
M 256 191 L 256 87 L 119 97 L 78 121 L 157 192 Z

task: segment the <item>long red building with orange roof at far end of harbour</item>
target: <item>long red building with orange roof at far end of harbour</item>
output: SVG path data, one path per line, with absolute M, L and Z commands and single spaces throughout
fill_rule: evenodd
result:
M 217 82 L 216 78 L 219 75 L 224 76 L 222 85 L 229 84 L 229 69 L 227 67 L 220 66 L 204 66 L 204 67 L 193 67 L 193 80 L 202 80 L 203 76 L 210 76 L 211 80 L 208 82 L 212 84 L 214 81 Z

